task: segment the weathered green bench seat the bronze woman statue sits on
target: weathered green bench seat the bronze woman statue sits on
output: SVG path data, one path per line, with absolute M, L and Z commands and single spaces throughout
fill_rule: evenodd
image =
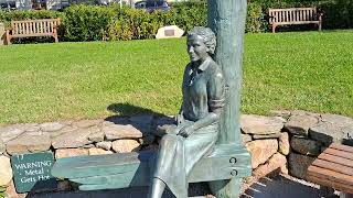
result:
M 153 152 L 133 152 L 60 158 L 52 168 L 52 175 L 81 184 L 81 190 L 149 186 L 156 156 Z M 244 146 L 218 145 L 195 165 L 189 182 L 250 176 L 250 161 Z

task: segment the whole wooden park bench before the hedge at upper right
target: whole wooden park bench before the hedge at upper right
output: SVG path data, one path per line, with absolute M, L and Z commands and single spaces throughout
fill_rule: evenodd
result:
M 289 8 L 269 9 L 269 24 L 272 33 L 278 25 L 290 24 L 317 24 L 319 31 L 322 29 L 322 14 L 318 13 L 317 8 Z

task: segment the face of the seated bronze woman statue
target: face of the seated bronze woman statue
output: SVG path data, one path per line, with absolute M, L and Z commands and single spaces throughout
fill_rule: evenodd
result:
M 202 36 L 192 34 L 188 37 L 188 53 L 191 62 L 205 61 L 208 57 L 207 52 Z

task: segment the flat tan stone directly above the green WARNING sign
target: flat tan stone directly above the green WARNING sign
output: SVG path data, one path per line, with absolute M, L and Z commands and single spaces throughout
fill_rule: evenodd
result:
M 22 134 L 7 143 L 7 152 L 10 155 L 22 153 L 35 153 L 47 151 L 52 145 L 49 135 L 30 135 Z

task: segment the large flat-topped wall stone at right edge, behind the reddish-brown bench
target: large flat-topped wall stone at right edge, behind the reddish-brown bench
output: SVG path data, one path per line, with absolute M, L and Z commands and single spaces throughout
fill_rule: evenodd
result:
M 329 146 L 332 142 L 353 145 L 353 119 L 338 114 L 322 114 L 322 122 L 310 128 L 311 139 Z

